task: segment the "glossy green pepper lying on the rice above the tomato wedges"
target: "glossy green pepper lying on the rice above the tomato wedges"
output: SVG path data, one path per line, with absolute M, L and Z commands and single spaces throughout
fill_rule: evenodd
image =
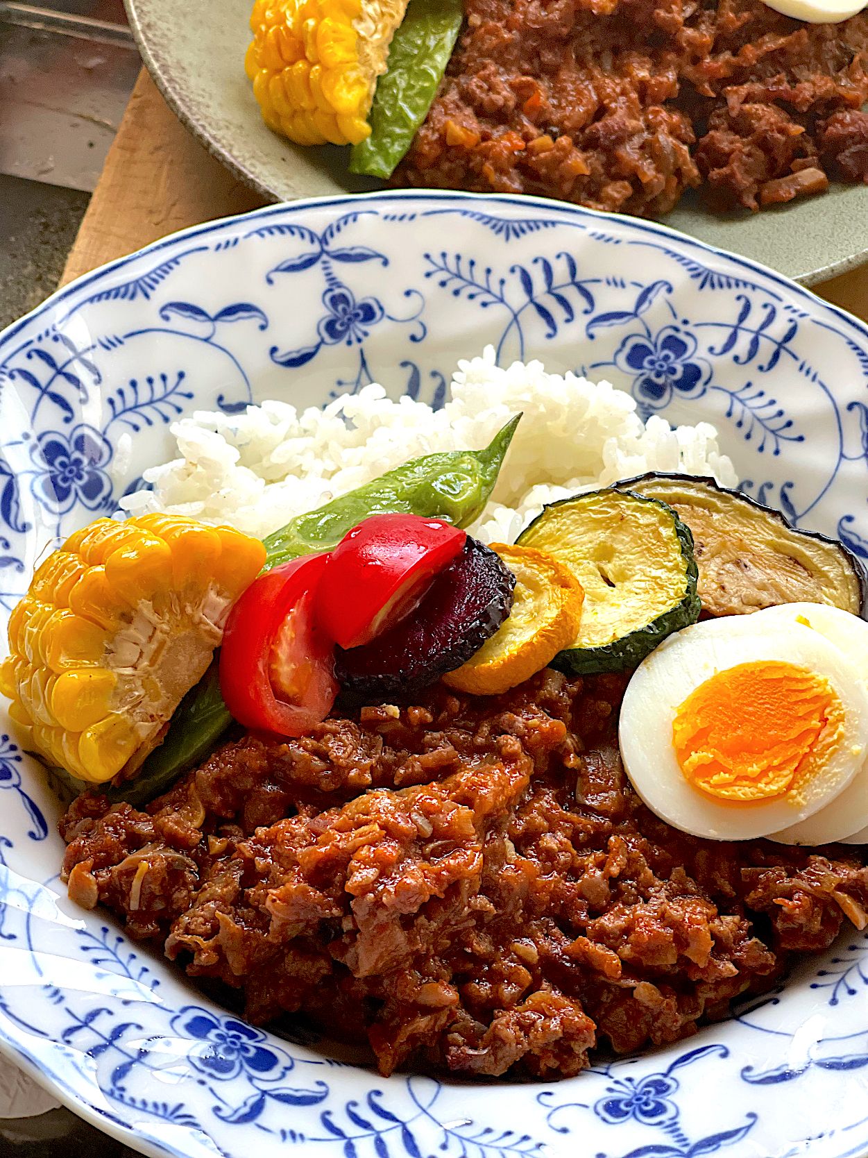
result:
M 396 467 L 325 506 L 301 514 L 265 540 L 265 566 L 329 551 L 373 514 L 400 512 L 469 527 L 481 514 L 498 481 L 521 415 L 510 418 L 484 450 L 426 454 Z

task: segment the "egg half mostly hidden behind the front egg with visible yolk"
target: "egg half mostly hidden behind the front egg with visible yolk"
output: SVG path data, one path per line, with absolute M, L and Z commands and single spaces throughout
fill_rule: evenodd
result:
M 807 620 L 811 630 L 819 632 L 853 661 L 868 686 L 868 623 L 865 620 L 825 603 L 784 603 L 755 614 L 765 623 Z M 800 824 L 771 833 L 768 840 L 779 844 L 868 843 L 868 760 L 831 804 Z

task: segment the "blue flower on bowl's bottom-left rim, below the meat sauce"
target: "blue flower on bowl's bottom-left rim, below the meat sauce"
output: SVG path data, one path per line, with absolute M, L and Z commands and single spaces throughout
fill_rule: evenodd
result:
M 257 1078 L 278 1080 L 293 1068 L 286 1054 L 278 1056 L 266 1049 L 260 1029 L 255 1029 L 235 1018 L 218 1020 L 198 1005 L 185 1005 L 171 1021 L 172 1029 L 186 1038 L 198 1039 L 187 1051 L 192 1065 L 218 1082 L 231 1082 L 242 1071 Z

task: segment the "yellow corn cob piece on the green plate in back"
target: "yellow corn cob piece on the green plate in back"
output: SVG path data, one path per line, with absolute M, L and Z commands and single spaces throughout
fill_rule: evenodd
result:
M 256 0 L 244 67 L 265 124 L 299 145 L 358 145 L 407 0 Z

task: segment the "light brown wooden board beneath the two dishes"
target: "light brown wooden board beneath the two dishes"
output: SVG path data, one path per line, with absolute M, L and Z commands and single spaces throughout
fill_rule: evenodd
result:
M 142 68 L 60 284 L 176 229 L 264 204 L 190 135 Z M 868 321 L 868 265 L 812 288 Z

